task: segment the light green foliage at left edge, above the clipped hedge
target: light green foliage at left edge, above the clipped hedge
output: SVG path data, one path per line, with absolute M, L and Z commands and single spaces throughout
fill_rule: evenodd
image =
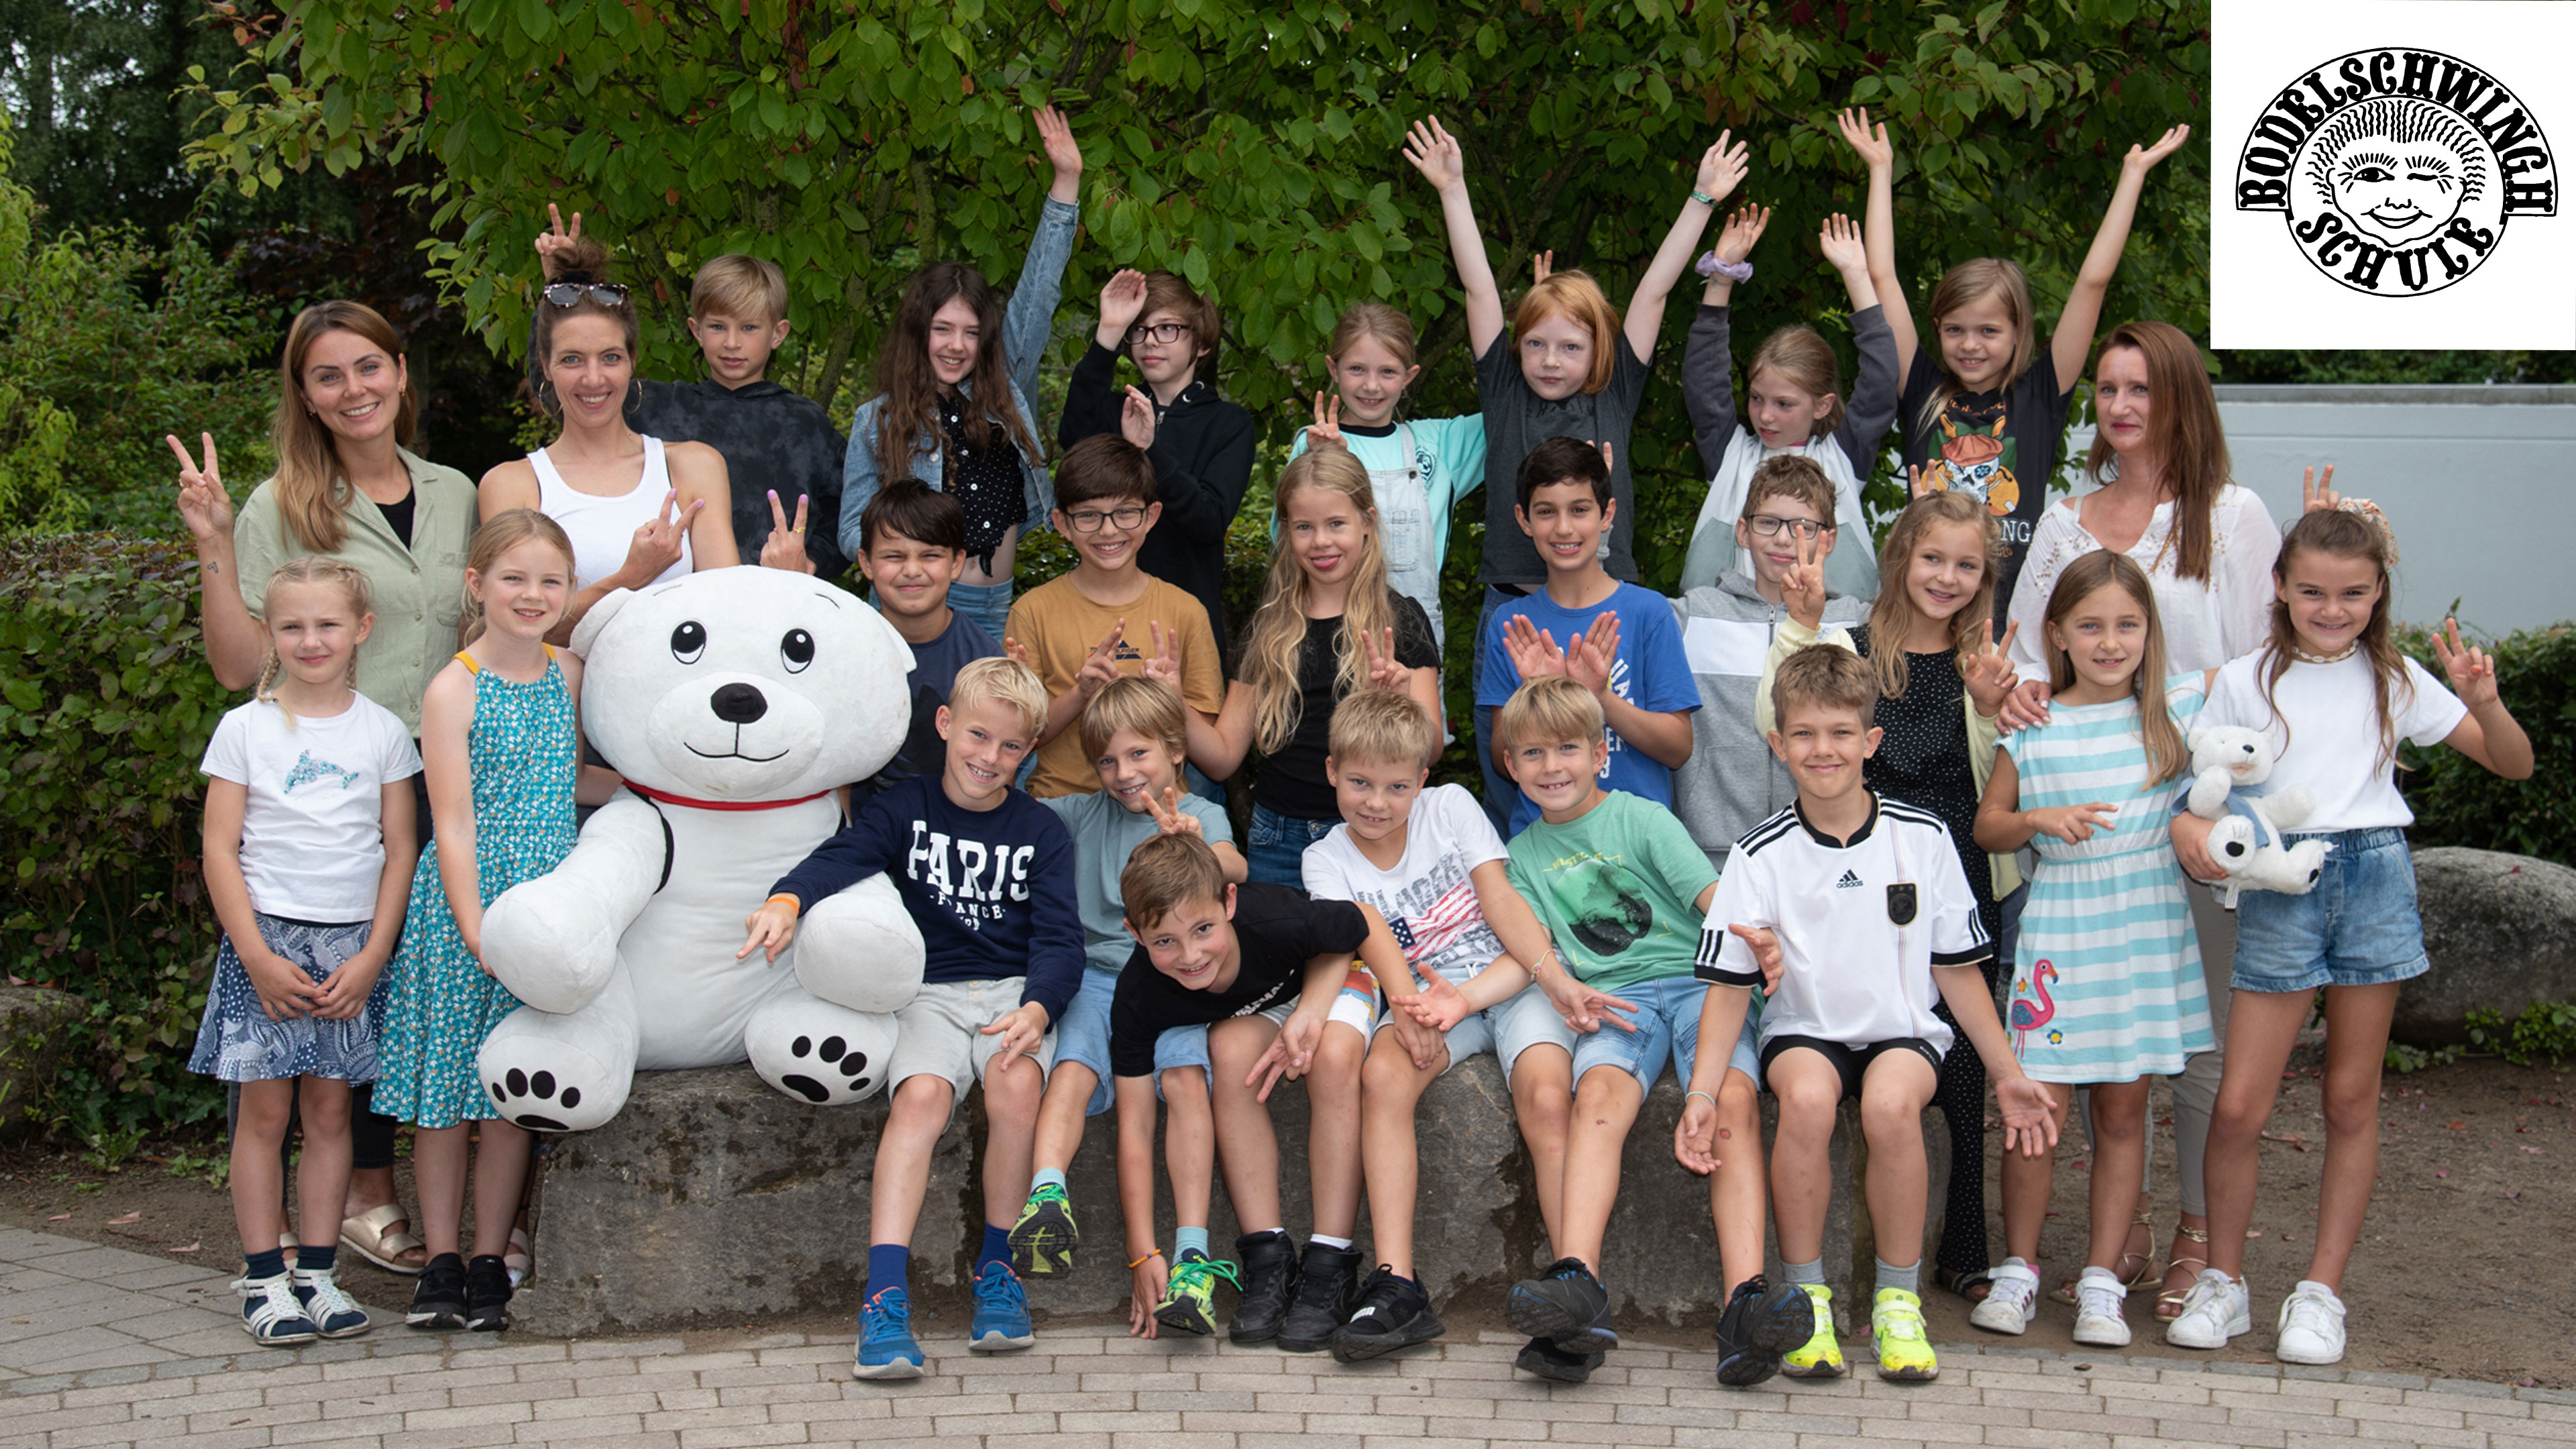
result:
M 214 428 L 260 477 L 268 327 L 188 232 L 36 237 L 0 121 L 0 529 L 173 534 L 162 433 Z

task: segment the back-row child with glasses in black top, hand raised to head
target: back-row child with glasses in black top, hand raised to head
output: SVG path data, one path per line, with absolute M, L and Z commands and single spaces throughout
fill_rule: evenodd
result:
M 1064 389 L 1056 443 L 1121 433 L 1128 394 L 1151 402 L 1144 431 L 1154 462 L 1162 526 L 1144 541 L 1144 572 L 1177 583 L 1226 642 L 1226 529 L 1252 485 L 1252 413 L 1216 394 L 1216 302 L 1170 271 L 1121 271 L 1100 289 L 1100 327 Z M 1141 389 L 1118 387 L 1118 356 L 1136 364 Z M 1131 438 L 1136 433 L 1128 433 Z

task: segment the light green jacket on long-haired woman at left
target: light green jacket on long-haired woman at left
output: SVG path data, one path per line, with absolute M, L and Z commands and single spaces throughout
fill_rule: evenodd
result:
M 412 547 L 402 547 L 368 495 L 350 490 L 348 541 L 332 557 L 358 565 L 376 596 L 376 629 L 358 645 L 358 694 L 392 709 L 420 737 L 420 696 L 459 647 L 456 619 L 464 614 L 466 544 L 477 513 L 466 474 L 410 451 L 402 464 L 412 469 Z M 260 482 L 232 521 L 242 603 L 252 616 L 268 598 L 268 575 L 309 552 L 278 516 L 278 480 Z

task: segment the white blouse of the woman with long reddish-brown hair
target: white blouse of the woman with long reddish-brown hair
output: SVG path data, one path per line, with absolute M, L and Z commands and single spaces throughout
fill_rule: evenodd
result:
M 2048 645 L 2040 624 L 2048 619 L 2048 593 L 2079 557 L 2102 549 L 2084 531 L 2079 500 L 2061 498 L 2030 534 L 2022 578 L 2012 588 L 2009 619 L 2022 627 L 2012 639 L 2012 668 L 2022 678 L 2048 678 Z M 2128 547 L 2130 562 L 2146 570 L 2156 588 L 2156 616 L 2164 624 L 2166 673 L 2213 670 L 2251 652 L 2272 632 L 2272 559 L 2280 554 L 2280 529 L 2251 490 L 2223 485 L 2210 505 L 2210 578 L 2177 578 L 2179 544 L 2174 505 L 2159 503 L 2146 531 Z M 2172 544 L 2172 547 L 2169 547 Z

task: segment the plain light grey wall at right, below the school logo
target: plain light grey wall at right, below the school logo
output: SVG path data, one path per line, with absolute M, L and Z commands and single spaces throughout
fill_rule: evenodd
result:
M 2398 619 L 2488 634 L 2576 616 L 2576 387 L 2221 387 L 2236 482 L 2272 521 L 2334 464 L 2398 531 Z M 2066 441 L 2071 464 L 2092 428 Z M 2081 490 L 2081 482 L 2076 482 Z

